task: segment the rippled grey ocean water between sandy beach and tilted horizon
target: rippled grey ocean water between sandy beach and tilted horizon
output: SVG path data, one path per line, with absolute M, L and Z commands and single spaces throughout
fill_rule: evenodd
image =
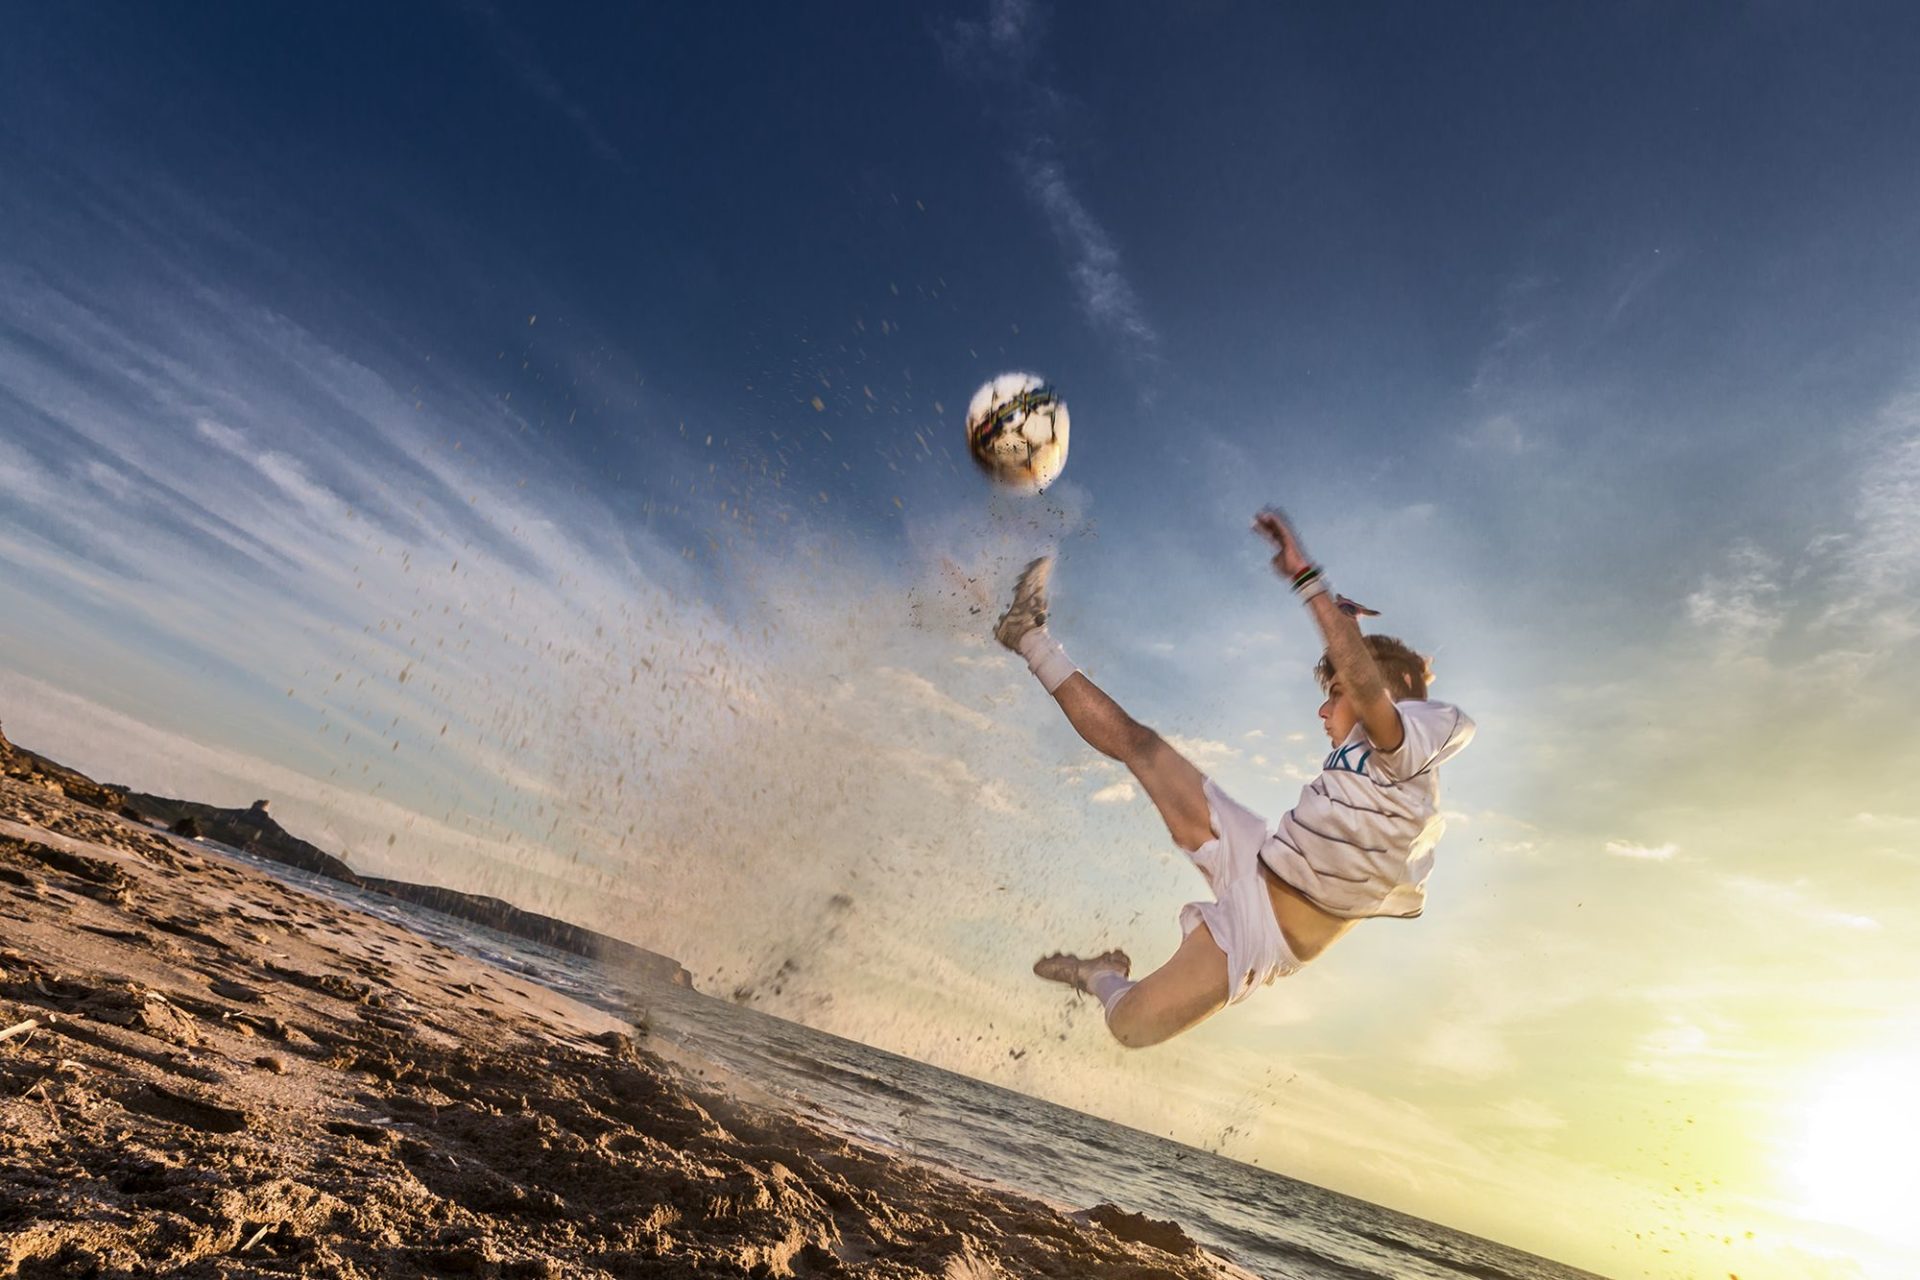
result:
M 211 844 L 211 842 L 209 842 Z M 1594 1272 L 1380 1205 L 841 1040 L 684 986 L 609 988 L 593 961 L 440 912 L 213 846 L 309 892 L 612 1013 L 647 1011 L 649 1040 L 745 1077 L 870 1146 L 1077 1207 L 1112 1201 L 1179 1222 L 1267 1280 L 1582 1280 Z

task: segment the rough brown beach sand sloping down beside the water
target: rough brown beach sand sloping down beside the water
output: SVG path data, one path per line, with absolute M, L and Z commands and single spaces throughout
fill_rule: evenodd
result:
M 1244 1276 L 0 779 L 0 1276 Z

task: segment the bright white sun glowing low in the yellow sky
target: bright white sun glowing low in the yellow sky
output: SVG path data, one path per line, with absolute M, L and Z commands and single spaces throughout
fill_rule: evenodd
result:
M 1920 1199 L 1920 1057 L 1857 1063 L 1807 1107 L 1795 1176 L 1807 1213 L 1876 1236 Z

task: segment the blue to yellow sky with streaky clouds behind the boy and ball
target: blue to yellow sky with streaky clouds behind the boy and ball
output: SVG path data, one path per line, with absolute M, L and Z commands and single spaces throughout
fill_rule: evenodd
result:
M 0 722 L 1609 1276 L 1920 1272 L 1903 6 L 25 6 Z M 1073 413 L 995 491 L 960 415 Z M 1277 819 L 1283 505 L 1478 737 L 1413 923 L 1114 1046 Z

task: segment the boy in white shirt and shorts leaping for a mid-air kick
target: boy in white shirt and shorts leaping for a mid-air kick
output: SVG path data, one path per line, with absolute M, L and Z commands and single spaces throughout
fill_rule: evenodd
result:
M 1332 752 L 1273 831 L 1073 668 L 1046 631 L 1050 557 L 1020 576 L 995 628 L 1079 735 L 1133 771 L 1213 890 L 1213 902 L 1181 910 L 1185 940 L 1140 981 L 1129 979 L 1133 961 L 1117 950 L 1033 965 L 1098 1000 L 1127 1048 L 1160 1044 L 1296 973 L 1361 919 L 1419 915 L 1446 825 L 1436 770 L 1473 739 L 1457 706 L 1427 700 L 1425 658 L 1390 635 L 1359 633 L 1356 616 L 1373 610 L 1329 591 L 1277 510 L 1254 516 L 1254 530 L 1273 543 L 1273 566 L 1327 639 L 1315 676 Z

